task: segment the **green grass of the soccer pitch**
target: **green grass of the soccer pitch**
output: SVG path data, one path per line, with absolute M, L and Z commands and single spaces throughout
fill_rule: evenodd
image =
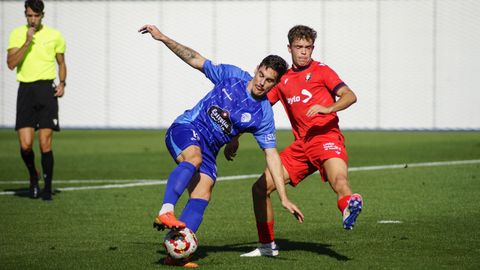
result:
M 345 135 L 351 167 L 480 159 L 479 132 Z M 163 139 L 163 131 L 62 131 L 54 138 L 55 179 L 166 179 L 174 163 Z M 290 132 L 280 132 L 279 148 L 291 139 Z M 28 186 L 11 182 L 26 178 L 18 152 L 15 133 L 0 130 L 0 192 Z M 242 137 L 234 162 L 218 158 L 219 176 L 256 174 L 264 166 L 251 136 Z M 256 246 L 255 179 L 218 182 L 197 233 L 198 263 L 203 269 L 480 268 L 480 164 L 354 171 L 349 178 L 365 200 L 352 231 L 341 228 L 335 195 L 319 175 L 287 188 L 304 224 L 273 195 L 277 258 L 239 257 Z M 91 185 L 103 184 L 55 187 Z M 62 191 L 52 202 L 0 195 L 0 268 L 167 268 L 161 264 L 163 233 L 151 227 L 163 191 L 163 185 Z

